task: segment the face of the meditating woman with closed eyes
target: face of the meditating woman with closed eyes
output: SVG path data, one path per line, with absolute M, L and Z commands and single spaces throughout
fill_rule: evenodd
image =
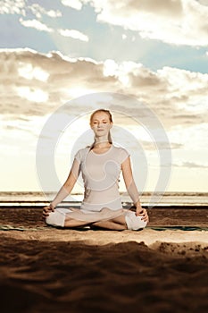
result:
M 97 112 L 93 115 L 90 126 L 95 132 L 96 137 L 102 137 L 108 135 L 112 128 L 112 122 L 109 115 L 104 112 Z

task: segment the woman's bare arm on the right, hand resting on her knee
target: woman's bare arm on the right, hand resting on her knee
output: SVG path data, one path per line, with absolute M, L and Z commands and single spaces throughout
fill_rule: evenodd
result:
M 145 208 L 141 207 L 141 203 L 139 200 L 139 194 L 137 190 L 136 183 L 134 181 L 131 165 L 130 165 L 130 157 L 127 157 L 125 161 L 121 164 L 121 171 L 123 175 L 123 180 L 125 182 L 126 189 L 129 193 L 129 197 L 134 202 L 136 207 L 136 215 L 143 216 L 142 219 L 148 222 L 149 218 L 147 215 L 147 211 Z

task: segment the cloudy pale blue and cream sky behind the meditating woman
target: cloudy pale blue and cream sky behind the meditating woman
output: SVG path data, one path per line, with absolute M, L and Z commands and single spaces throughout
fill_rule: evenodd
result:
M 208 191 L 208 0 L 0 4 L 0 190 L 57 190 L 106 107 L 141 192 Z

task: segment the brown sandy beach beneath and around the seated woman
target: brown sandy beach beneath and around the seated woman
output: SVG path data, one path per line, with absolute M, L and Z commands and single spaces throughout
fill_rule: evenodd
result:
M 41 208 L 0 211 L 3 312 L 208 310 L 205 228 L 162 228 L 164 210 L 157 224 L 149 210 L 152 222 L 138 232 L 63 230 L 46 226 Z

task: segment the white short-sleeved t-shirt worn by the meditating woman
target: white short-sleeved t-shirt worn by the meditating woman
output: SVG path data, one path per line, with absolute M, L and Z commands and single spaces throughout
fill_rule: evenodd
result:
M 82 148 L 75 155 L 82 173 L 85 194 L 82 209 L 100 211 L 103 207 L 116 210 L 122 207 L 119 192 L 119 177 L 122 162 L 129 152 L 111 146 L 105 153 L 96 154 L 90 148 Z

